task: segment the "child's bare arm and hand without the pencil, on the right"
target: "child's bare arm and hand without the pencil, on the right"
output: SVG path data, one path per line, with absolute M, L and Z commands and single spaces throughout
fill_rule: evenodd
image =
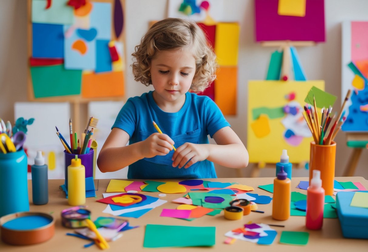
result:
M 217 144 L 185 143 L 173 154 L 173 167 L 179 165 L 188 168 L 192 164 L 207 159 L 230 168 L 244 168 L 248 165 L 249 155 L 240 138 L 230 127 L 223 127 L 213 134 Z

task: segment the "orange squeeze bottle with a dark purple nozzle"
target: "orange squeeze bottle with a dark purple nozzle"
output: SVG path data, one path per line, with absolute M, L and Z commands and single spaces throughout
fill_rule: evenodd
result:
M 287 220 L 290 217 L 291 180 L 284 172 L 284 166 L 273 180 L 272 218 Z

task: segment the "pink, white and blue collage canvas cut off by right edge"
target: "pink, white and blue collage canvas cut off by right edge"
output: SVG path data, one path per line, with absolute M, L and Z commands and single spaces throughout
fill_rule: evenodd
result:
M 347 116 L 342 130 L 368 131 L 368 22 L 342 23 L 342 102 L 349 89 L 353 90 L 346 102 Z

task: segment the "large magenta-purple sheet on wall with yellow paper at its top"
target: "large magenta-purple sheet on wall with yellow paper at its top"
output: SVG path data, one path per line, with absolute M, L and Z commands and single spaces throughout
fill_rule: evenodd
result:
M 325 41 L 323 0 L 307 0 L 305 17 L 277 14 L 278 0 L 255 0 L 256 41 Z

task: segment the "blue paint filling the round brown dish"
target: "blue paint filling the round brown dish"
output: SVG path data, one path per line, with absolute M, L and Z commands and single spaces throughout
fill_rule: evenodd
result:
M 22 216 L 4 223 L 3 227 L 11 230 L 31 230 L 50 224 L 52 219 L 45 216 Z

